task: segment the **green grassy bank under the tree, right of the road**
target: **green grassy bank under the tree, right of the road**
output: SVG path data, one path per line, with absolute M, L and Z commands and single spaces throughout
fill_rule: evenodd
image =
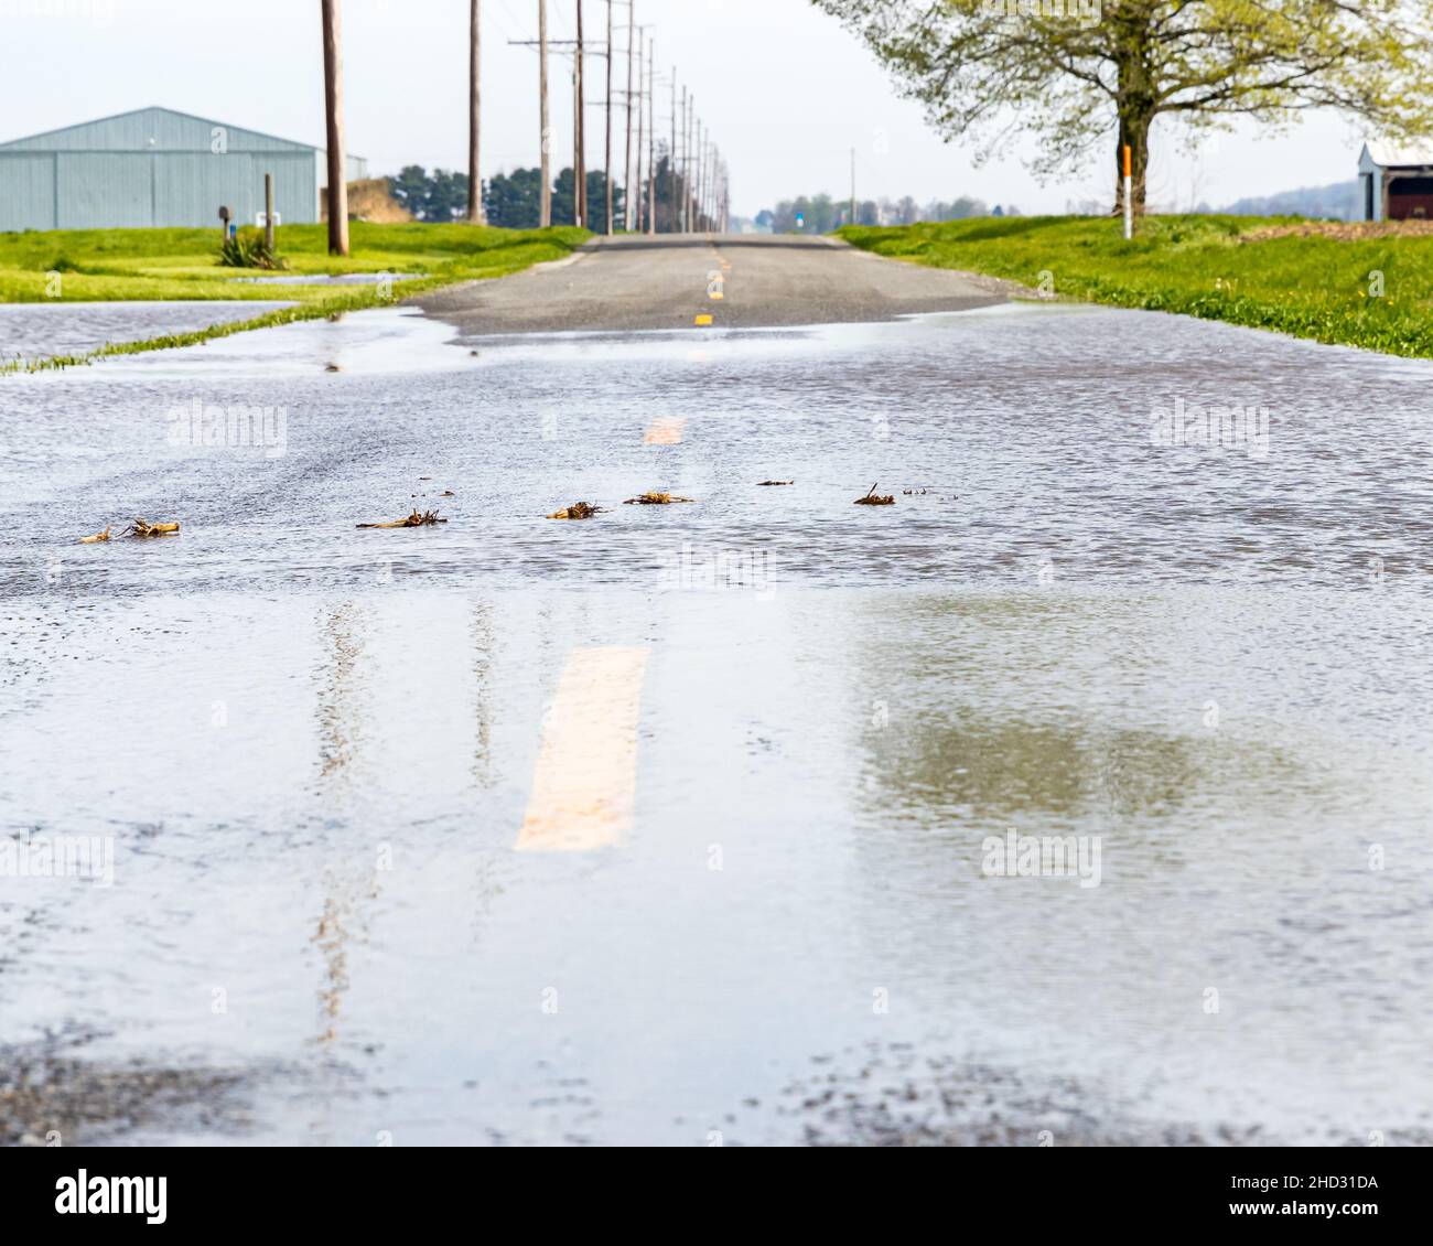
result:
M 1294 218 L 1012 217 L 847 227 L 847 242 L 916 264 L 1005 277 L 1058 295 L 1433 357 L 1433 237 L 1278 234 Z M 1273 232 L 1275 237 L 1268 237 Z M 1252 235 L 1252 237 L 1251 237 Z M 1383 274 L 1383 295 L 1377 278 Z

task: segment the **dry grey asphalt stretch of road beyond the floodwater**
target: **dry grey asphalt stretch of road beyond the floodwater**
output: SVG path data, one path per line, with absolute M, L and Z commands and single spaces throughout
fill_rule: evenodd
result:
M 719 297 L 715 297 L 719 295 Z M 999 285 L 833 238 L 603 238 L 572 260 L 417 300 L 464 336 L 871 323 L 1002 303 Z

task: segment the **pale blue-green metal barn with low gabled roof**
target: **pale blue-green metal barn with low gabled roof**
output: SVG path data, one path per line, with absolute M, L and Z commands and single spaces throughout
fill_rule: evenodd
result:
M 264 212 L 264 175 L 274 209 L 291 225 L 318 221 L 327 185 L 321 148 L 261 135 L 168 108 L 0 142 L 0 231 L 212 225 L 219 208 L 239 224 Z M 368 175 L 348 158 L 348 181 Z

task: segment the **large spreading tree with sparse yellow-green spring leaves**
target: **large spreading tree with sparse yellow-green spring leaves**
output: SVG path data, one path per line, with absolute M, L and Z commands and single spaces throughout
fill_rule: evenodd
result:
M 840 17 L 977 161 L 1025 130 L 1035 171 L 1113 139 L 1145 206 L 1149 133 L 1195 143 L 1247 116 L 1334 109 L 1390 138 L 1433 132 L 1433 0 L 813 0 Z

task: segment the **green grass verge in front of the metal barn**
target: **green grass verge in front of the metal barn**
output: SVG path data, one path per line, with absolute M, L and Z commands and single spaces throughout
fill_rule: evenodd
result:
M 341 311 L 383 307 L 459 281 L 506 277 L 533 264 L 570 255 L 590 235 L 585 229 L 494 229 L 481 225 L 368 225 L 355 221 L 347 258 L 328 255 L 325 225 L 285 225 L 278 249 L 289 275 L 403 272 L 411 281 L 377 285 L 269 285 L 242 278 L 258 270 L 215 262 L 218 229 L 75 229 L 0 234 L 0 303 L 125 303 L 216 300 L 294 307 L 257 314 L 193 333 L 110 343 L 83 356 L 0 363 L 0 373 L 42 371 L 90 363 L 113 354 L 192 346 L 251 328 L 315 320 Z

